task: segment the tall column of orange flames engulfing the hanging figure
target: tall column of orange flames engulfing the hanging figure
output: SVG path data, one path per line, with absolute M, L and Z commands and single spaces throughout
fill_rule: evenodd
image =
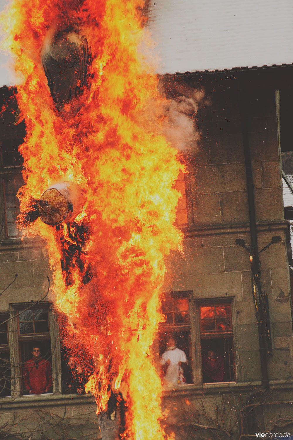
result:
M 61 180 L 76 182 L 87 194 L 71 223 L 50 226 L 37 219 L 29 231 L 47 242 L 54 304 L 67 317 L 67 348 L 84 364 L 82 353 L 90 353 L 94 374 L 87 390 L 97 412 L 111 386 L 117 390 L 123 380 L 129 389 L 127 435 L 159 440 L 165 438 L 161 383 L 151 346 L 162 319 L 164 257 L 181 246 L 174 183 L 184 167 L 162 135 L 164 118 L 153 116 L 160 115 L 164 99 L 137 50 L 148 44 L 143 6 L 141 0 L 13 0 L 2 24 L 26 124 L 19 197 L 38 200 Z M 58 106 L 61 89 L 51 75 L 50 92 L 43 54 L 66 29 L 74 29 L 66 37 L 70 44 L 78 35 L 83 49 L 90 48 L 91 60 L 78 93 Z M 76 81 L 72 63 L 69 68 Z M 71 112 L 73 98 L 78 104 Z M 61 108 L 70 116 L 62 117 Z

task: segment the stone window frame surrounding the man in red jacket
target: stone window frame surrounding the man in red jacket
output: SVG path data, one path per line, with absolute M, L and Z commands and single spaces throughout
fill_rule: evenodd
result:
M 18 329 L 18 313 L 19 310 L 25 308 L 48 308 L 48 322 L 49 322 L 49 337 L 42 334 L 37 334 L 35 337 L 29 335 L 19 336 Z M 10 338 L 10 358 L 13 359 L 11 366 L 11 397 L 22 396 L 22 364 L 20 359 L 20 345 L 21 341 L 43 341 L 51 342 L 51 361 L 52 361 L 52 377 L 53 377 L 53 395 L 62 393 L 62 377 L 61 377 L 61 350 L 60 337 L 57 315 L 52 309 L 52 304 L 49 301 L 32 303 L 16 303 L 10 304 L 10 316 L 8 321 L 8 331 Z M 33 336 L 33 334 L 32 334 Z M 43 338 L 45 337 L 45 339 Z

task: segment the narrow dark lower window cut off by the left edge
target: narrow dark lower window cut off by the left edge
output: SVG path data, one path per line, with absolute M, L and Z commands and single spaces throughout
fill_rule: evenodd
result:
M 0 316 L 0 398 L 11 396 L 8 318 L 6 315 Z

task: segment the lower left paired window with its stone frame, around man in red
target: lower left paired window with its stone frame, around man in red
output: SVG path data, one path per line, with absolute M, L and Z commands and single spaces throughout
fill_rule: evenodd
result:
M 10 314 L 0 315 L 0 399 L 28 394 L 24 368 L 34 347 L 40 348 L 41 356 L 33 367 L 40 369 L 47 363 L 47 371 L 52 373 L 53 387 L 46 392 L 61 394 L 59 326 L 50 303 L 11 304 Z

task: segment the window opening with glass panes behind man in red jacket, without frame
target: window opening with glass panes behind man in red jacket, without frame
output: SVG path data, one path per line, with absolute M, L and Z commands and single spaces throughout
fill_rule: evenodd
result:
M 18 345 L 19 345 L 19 359 L 20 365 L 22 367 L 21 374 L 21 390 L 22 394 L 28 394 L 27 388 L 27 375 L 25 374 L 27 365 L 26 363 L 33 359 L 33 348 L 40 348 L 40 360 L 38 362 L 32 363 L 29 367 L 39 368 L 39 362 L 45 363 L 48 361 L 50 363 L 51 369 L 51 335 L 50 335 L 50 324 L 49 324 L 49 310 L 48 306 L 43 305 L 36 308 L 31 308 L 29 310 L 23 310 L 19 308 L 18 312 Z M 35 367 L 36 365 L 36 367 Z M 41 366 L 42 367 L 42 366 Z M 40 368 L 41 370 L 41 368 Z M 42 374 L 44 368 L 42 367 Z M 33 384 L 30 384 L 33 385 Z M 33 389 L 33 386 L 31 387 Z M 40 394 L 42 394 L 40 392 Z

